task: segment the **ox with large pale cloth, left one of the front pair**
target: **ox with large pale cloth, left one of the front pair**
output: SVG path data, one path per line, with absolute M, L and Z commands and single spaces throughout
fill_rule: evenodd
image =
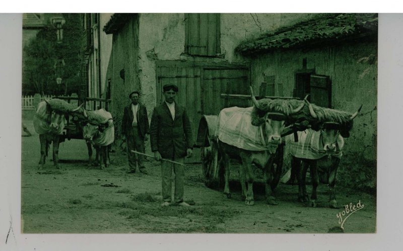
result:
M 231 197 L 229 190 L 230 159 L 241 163 L 239 170 L 242 199 L 245 205 L 253 205 L 253 164 L 263 170 L 265 195 L 268 204 L 278 205 L 273 195 L 272 168 L 281 137 L 292 132 L 293 125 L 288 117 L 301 111 L 305 103 L 294 100 L 291 105 L 285 99 L 261 99 L 257 101 L 250 87 L 254 106 L 249 108 L 230 107 L 220 112 L 215 136 L 221 163 L 224 165 L 224 194 Z M 245 186 L 245 178 L 247 189 Z

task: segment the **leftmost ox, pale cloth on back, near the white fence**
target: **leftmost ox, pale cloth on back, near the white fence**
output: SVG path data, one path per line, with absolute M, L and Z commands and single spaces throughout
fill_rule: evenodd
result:
M 45 159 L 48 156 L 48 148 L 52 142 L 53 165 L 59 168 L 59 139 L 64 130 L 64 115 L 83 110 L 81 106 L 75 107 L 60 99 L 45 99 L 39 102 L 33 119 L 35 132 L 39 134 L 41 146 L 39 169 L 42 169 L 45 164 Z

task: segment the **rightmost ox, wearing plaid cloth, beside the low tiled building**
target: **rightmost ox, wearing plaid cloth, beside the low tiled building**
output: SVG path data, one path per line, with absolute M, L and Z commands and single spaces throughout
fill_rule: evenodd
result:
M 305 99 L 308 104 L 310 114 L 313 118 L 317 118 L 317 114 L 312 108 L 312 105 Z M 347 121 L 352 128 L 353 119 L 358 115 L 361 107 L 352 114 Z M 334 194 L 334 184 L 336 181 L 336 173 L 339 167 L 340 159 L 342 156 L 342 149 L 344 146 L 344 137 L 349 136 L 346 131 L 346 126 L 339 122 L 323 122 L 319 124 L 318 131 L 315 133 L 312 129 L 306 132 L 301 132 L 299 136 L 304 136 L 298 142 L 293 142 L 297 149 L 303 149 L 301 154 L 296 154 L 291 151 L 291 182 L 297 176 L 298 180 L 298 200 L 301 202 L 308 202 L 308 195 L 306 192 L 306 173 L 309 168 L 312 182 L 312 195 L 310 205 L 316 207 L 317 194 L 316 189 L 319 184 L 318 168 L 323 170 L 323 177 L 321 181 L 328 183 L 329 186 L 329 207 L 338 208 L 336 197 Z M 314 136 L 316 134 L 316 136 Z M 305 137 L 308 136 L 308 137 Z M 317 144 L 314 138 L 317 138 Z M 311 144 L 316 144 L 312 147 Z M 292 146 L 293 147 L 293 146 Z M 299 157 L 296 157 L 299 156 Z M 303 155 L 303 158 L 301 158 Z

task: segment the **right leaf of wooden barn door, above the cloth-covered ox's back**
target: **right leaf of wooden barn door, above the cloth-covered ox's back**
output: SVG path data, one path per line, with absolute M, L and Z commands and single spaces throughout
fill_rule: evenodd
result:
M 225 107 L 250 106 L 249 99 L 226 99 L 221 97 L 222 93 L 249 95 L 248 70 L 205 68 L 200 97 L 203 114 L 218 115 Z

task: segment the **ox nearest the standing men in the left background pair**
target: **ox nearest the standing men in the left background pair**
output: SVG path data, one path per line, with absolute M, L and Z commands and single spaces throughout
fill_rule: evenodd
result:
M 104 109 L 84 111 L 87 118 L 83 127 L 83 138 L 87 141 L 88 166 L 92 165 L 92 146 L 96 150 L 95 165 L 101 169 L 109 166 L 109 146 L 115 140 L 112 115 Z

